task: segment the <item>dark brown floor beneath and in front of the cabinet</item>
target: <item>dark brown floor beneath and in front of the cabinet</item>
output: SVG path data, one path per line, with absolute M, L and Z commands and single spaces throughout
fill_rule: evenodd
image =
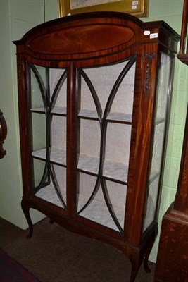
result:
M 65 231 L 44 219 L 28 231 L 0 219 L 0 247 L 41 282 L 128 282 L 131 265 L 118 250 L 91 238 Z M 153 281 L 143 266 L 135 282 Z

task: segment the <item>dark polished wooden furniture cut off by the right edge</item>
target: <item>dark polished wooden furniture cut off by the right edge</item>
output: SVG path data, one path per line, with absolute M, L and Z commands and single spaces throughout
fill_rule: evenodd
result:
M 187 16 L 188 1 L 184 0 L 180 52 L 177 57 L 185 64 L 188 64 Z M 188 281 L 188 106 L 177 193 L 175 201 L 163 216 L 154 281 Z

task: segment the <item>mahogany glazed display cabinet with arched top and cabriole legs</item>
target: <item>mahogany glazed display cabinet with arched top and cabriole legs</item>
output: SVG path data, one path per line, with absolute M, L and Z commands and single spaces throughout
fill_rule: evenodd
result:
M 85 13 L 17 45 L 22 207 L 121 250 L 137 276 L 157 234 L 179 35 L 163 21 Z

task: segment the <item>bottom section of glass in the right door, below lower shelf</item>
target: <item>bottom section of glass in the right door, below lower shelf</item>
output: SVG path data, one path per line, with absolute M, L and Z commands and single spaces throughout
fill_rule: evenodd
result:
M 80 216 L 95 221 L 96 223 L 100 223 L 108 228 L 112 228 L 115 231 L 120 231 L 108 210 L 101 185 L 99 185 L 96 195 L 92 197 L 92 201 L 87 204 L 89 198 L 92 196 L 92 192 L 94 191 L 96 178 L 94 176 L 88 176 L 87 174 L 80 173 L 79 182 L 80 190 L 77 194 L 77 211 L 81 211 Z M 108 204 L 111 204 L 111 209 L 113 210 L 115 219 L 123 229 L 127 187 L 111 181 L 106 181 L 106 187 L 108 190 Z M 87 207 L 84 208 L 85 204 L 87 204 Z

